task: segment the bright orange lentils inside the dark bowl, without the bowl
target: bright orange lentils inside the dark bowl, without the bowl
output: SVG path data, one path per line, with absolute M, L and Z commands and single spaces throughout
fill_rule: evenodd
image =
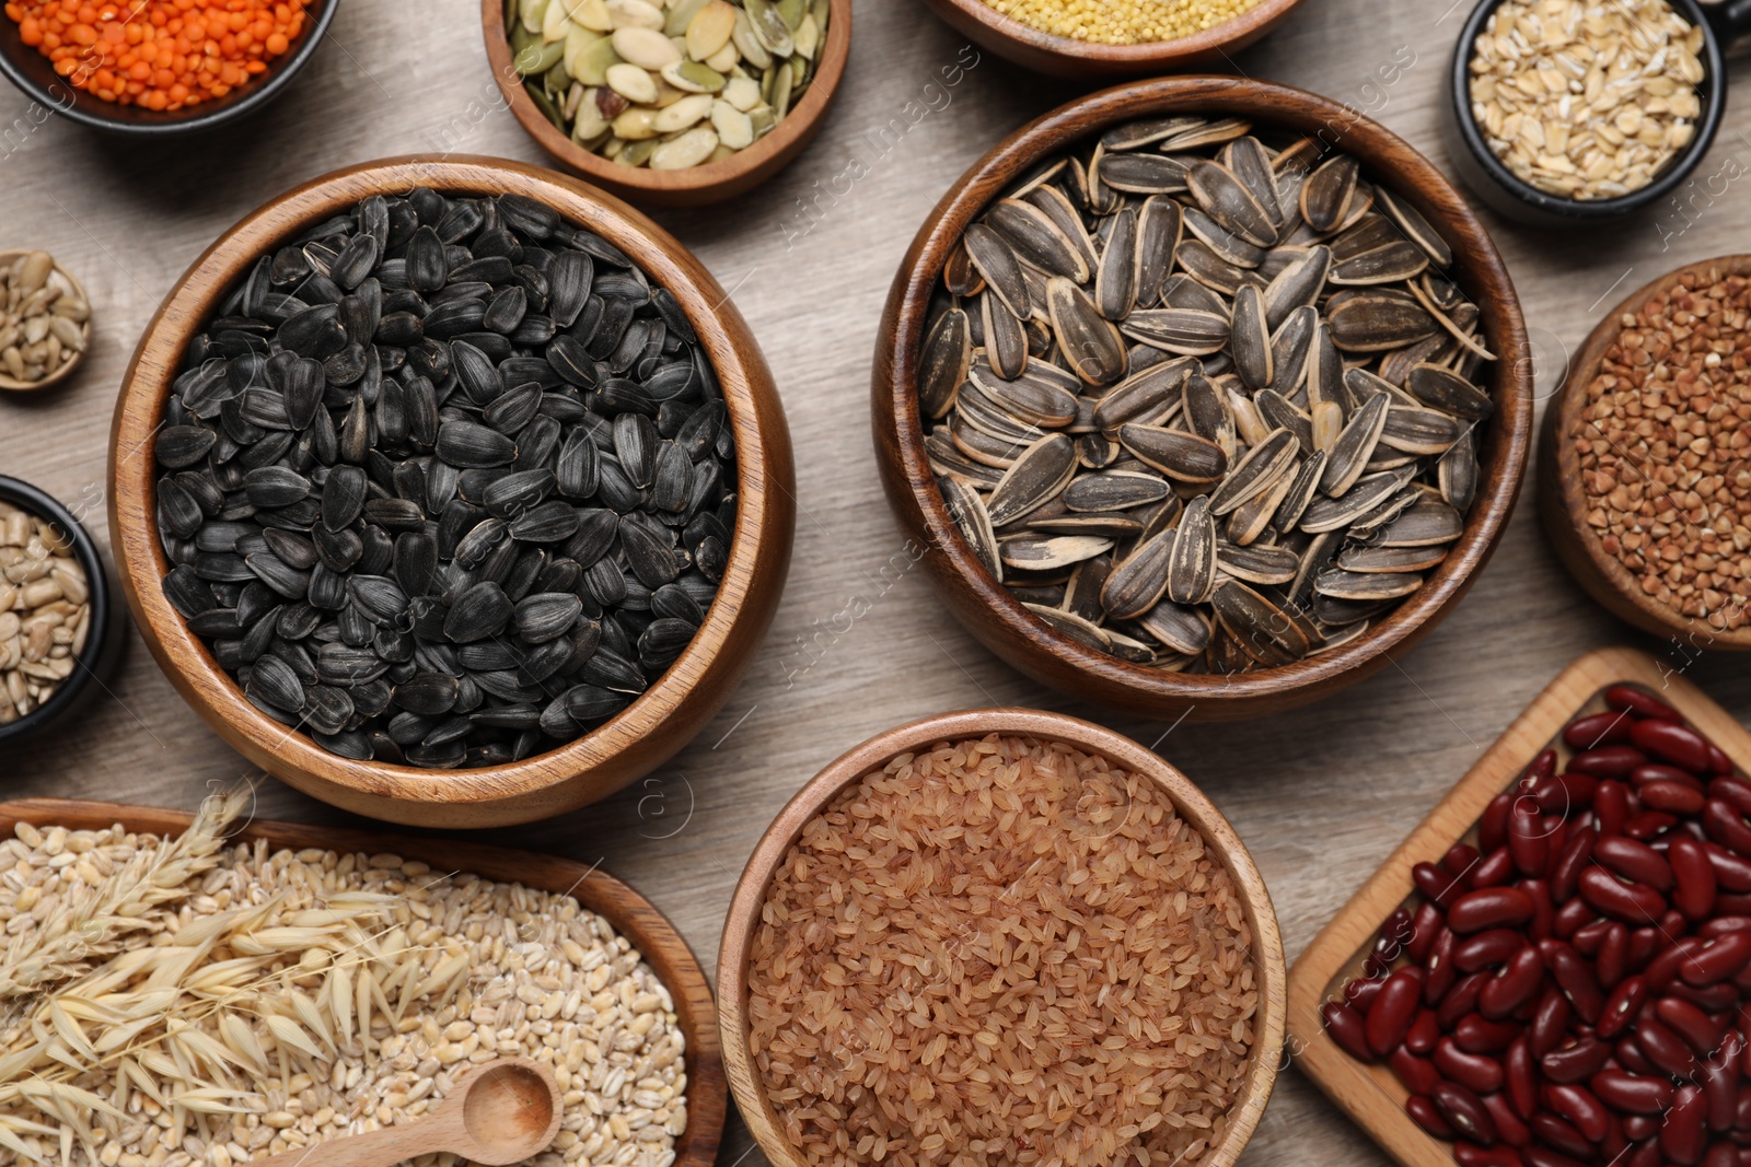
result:
M 9 0 L 19 38 L 74 89 L 179 110 L 264 73 L 305 30 L 308 0 Z

